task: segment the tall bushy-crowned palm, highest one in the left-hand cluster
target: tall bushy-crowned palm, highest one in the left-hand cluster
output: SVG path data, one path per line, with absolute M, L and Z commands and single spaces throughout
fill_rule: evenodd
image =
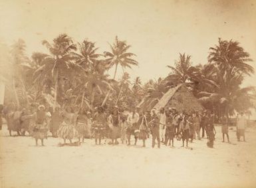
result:
M 55 102 L 57 102 L 58 82 L 61 76 L 68 75 L 68 72 L 74 68 L 81 68 L 74 62 L 74 56 L 71 54 L 72 50 L 76 50 L 76 46 L 66 34 L 53 39 L 52 44 L 48 41 L 43 41 L 42 44 L 49 49 L 50 54 L 45 56 L 42 66 L 34 72 L 35 81 L 51 76 L 55 82 Z

